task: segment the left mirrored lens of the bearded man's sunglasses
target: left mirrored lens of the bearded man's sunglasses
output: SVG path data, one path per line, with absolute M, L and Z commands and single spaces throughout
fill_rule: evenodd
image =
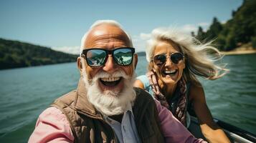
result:
M 91 49 L 87 51 L 86 60 L 89 66 L 103 66 L 106 52 L 101 49 Z

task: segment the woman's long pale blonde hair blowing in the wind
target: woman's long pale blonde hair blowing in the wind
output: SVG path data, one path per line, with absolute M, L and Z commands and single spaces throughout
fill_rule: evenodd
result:
M 153 51 L 159 41 L 168 41 L 177 44 L 179 51 L 185 56 L 186 67 L 183 77 L 186 81 L 198 83 L 196 76 L 210 80 L 218 79 L 229 71 L 224 66 L 215 64 L 222 59 L 222 54 L 212 46 L 212 41 L 202 43 L 190 34 L 184 34 L 177 29 L 158 28 L 151 32 L 151 39 L 146 47 L 146 59 L 149 62 L 148 70 L 153 68 Z

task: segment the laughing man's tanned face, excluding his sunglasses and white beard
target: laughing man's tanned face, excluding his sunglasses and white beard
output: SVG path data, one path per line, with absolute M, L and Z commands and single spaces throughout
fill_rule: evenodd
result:
M 87 39 L 83 46 L 86 47 L 86 49 L 99 48 L 112 50 L 119 47 L 131 47 L 131 42 L 125 32 L 118 26 L 102 24 L 96 26 L 87 34 Z M 89 81 L 101 75 L 95 81 L 98 83 L 101 92 L 107 93 L 111 91 L 115 92 L 115 96 L 118 96 L 118 93 L 122 92 L 125 87 L 124 77 L 127 76 L 131 78 L 133 76 L 137 56 L 134 56 L 133 60 L 135 60 L 135 62 L 129 66 L 119 66 L 115 63 L 112 55 L 108 55 L 108 60 L 105 65 L 96 68 L 88 66 L 84 58 L 79 58 L 78 60 L 82 62 L 82 69 L 85 70 Z M 122 76 L 120 71 L 125 75 Z

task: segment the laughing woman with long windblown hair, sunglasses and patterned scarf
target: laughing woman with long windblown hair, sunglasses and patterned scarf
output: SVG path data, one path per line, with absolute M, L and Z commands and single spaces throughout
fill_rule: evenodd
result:
M 193 36 L 174 29 L 154 29 L 146 48 L 148 72 L 137 77 L 134 86 L 147 90 L 185 127 L 189 127 L 190 121 L 187 110 L 193 108 L 209 142 L 229 142 L 213 121 L 204 89 L 197 79 L 214 80 L 227 72 L 224 67 L 214 64 L 222 56 L 210 44 L 202 44 Z M 208 51 L 212 54 L 211 59 Z

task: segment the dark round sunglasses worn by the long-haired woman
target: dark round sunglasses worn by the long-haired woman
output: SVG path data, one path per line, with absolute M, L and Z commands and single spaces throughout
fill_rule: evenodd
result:
M 171 56 L 166 56 L 165 54 L 158 54 L 156 56 L 153 56 L 153 62 L 156 65 L 161 66 L 166 63 L 167 58 L 170 58 L 174 64 L 179 64 L 179 61 L 184 59 L 184 55 L 179 52 L 173 53 L 171 54 Z

